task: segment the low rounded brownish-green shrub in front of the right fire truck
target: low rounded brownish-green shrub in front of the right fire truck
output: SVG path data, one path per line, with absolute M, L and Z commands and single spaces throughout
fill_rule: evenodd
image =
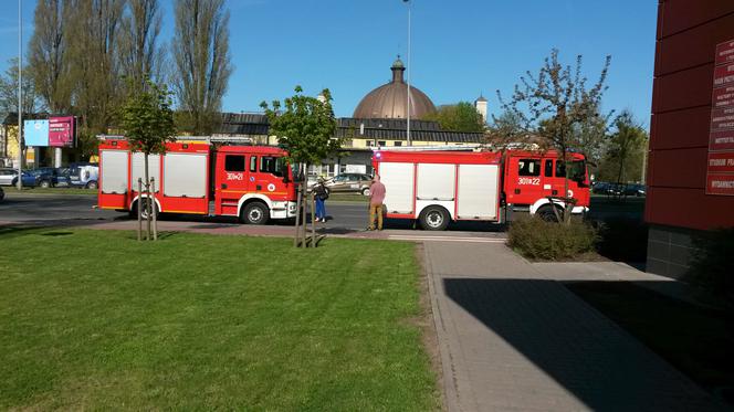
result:
M 507 233 L 510 247 L 529 258 L 557 261 L 594 251 L 596 230 L 584 222 L 570 224 L 529 218 L 512 222 Z

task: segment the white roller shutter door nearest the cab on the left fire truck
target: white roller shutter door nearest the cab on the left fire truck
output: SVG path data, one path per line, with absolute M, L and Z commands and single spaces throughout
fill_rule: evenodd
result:
M 179 198 L 207 196 L 207 155 L 167 154 L 164 157 L 164 194 Z

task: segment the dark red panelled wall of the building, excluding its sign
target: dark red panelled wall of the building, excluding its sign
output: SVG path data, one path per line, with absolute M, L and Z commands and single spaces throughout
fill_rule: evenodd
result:
M 705 194 L 714 50 L 734 39 L 734 0 L 660 0 L 648 200 L 650 223 L 734 225 L 734 197 Z

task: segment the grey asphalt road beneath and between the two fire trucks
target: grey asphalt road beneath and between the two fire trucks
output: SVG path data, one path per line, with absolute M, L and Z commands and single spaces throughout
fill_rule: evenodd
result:
M 96 209 L 97 198 L 84 194 L 29 194 L 6 190 L 6 199 L 0 202 L 0 224 L 80 224 L 125 220 L 127 214 L 111 210 Z M 327 222 L 325 228 L 334 233 L 366 229 L 368 224 L 367 203 L 364 202 L 326 202 Z M 232 218 L 207 218 L 196 215 L 166 215 L 161 220 L 196 221 L 202 223 L 234 223 Z M 289 222 L 275 225 L 292 224 Z M 389 220 L 386 229 L 412 229 L 412 222 Z M 449 231 L 496 232 L 502 226 L 479 222 L 462 222 L 449 226 Z M 427 232 L 424 232 L 427 233 Z

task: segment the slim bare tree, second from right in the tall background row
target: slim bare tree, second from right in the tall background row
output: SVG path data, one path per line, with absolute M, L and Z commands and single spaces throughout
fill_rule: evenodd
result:
M 144 88 L 146 78 L 159 81 L 164 51 L 157 45 L 161 14 L 158 0 L 128 0 L 123 18 L 119 60 L 120 71 L 130 85 Z

